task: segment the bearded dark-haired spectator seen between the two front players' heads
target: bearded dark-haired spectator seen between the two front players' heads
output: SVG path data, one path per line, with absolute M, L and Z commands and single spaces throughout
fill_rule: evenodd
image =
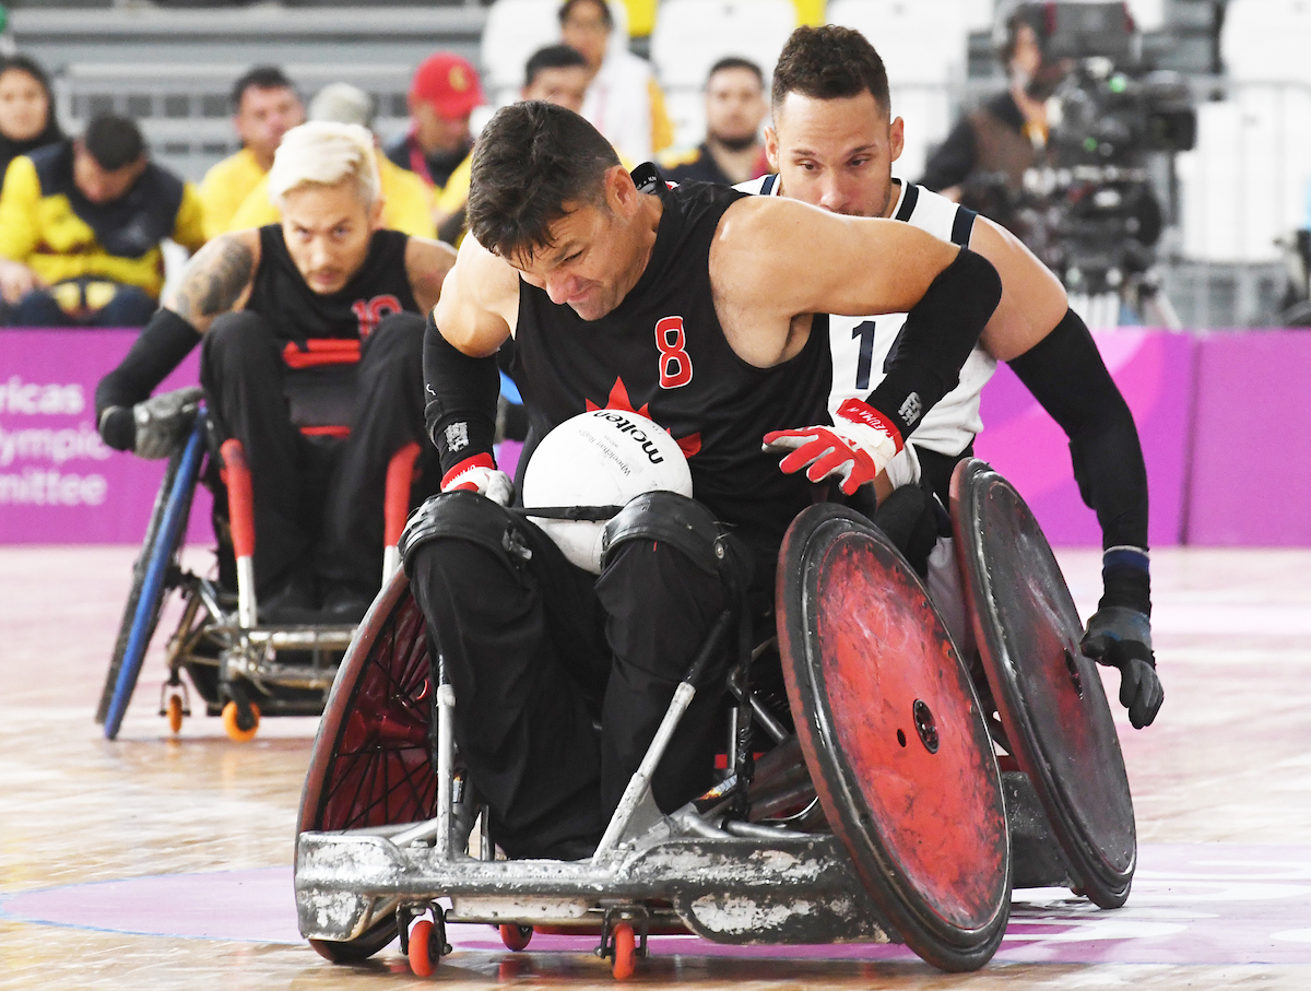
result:
M 770 107 L 764 73 L 749 59 L 720 59 L 705 77 L 705 140 L 694 151 L 666 153 L 661 172 L 673 182 L 732 186 L 770 172 L 760 125 Z

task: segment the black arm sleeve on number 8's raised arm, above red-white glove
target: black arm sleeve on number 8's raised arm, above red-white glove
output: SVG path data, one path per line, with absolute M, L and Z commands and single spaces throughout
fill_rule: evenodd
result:
M 869 397 L 903 438 L 956 388 L 961 366 L 1002 299 L 1002 279 L 982 254 L 961 248 L 906 315 L 886 375 Z

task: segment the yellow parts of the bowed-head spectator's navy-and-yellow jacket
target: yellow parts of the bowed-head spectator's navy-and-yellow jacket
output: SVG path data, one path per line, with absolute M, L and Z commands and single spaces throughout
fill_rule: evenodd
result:
M 190 182 L 165 235 L 187 250 L 205 244 L 201 197 Z M 20 155 L 5 172 L 0 193 L 0 257 L 22 262 L 45 282 L 97 277 L 140 286 L 159 299 L 164 287 L 164 256 L 156 243 L 143 254 L 110 254 L 90 225 L 73 212 L 63 193 L 42 190 L 37 166 Z

